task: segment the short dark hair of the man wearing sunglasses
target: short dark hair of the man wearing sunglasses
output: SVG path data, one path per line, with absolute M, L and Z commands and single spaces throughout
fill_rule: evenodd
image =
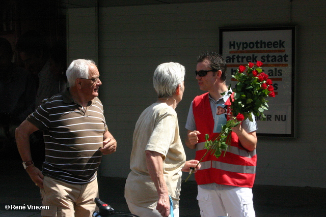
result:
M 211 51 L 211 52 L 207 51 L 197 57 L 197 63 L 201 63 L 202 61 L 204 61 L 206 59 L 209 61 L 209 63 L 210 63 L 209 67 L 212 70 L 214 70 L 214 71 L 221 70 L 222 71 L 221 80 L 225 81 L 227 71 L 226 71 L 226 63 L 224 61 L 223 56 L 220 53 L 217 53 L 214 51 Z

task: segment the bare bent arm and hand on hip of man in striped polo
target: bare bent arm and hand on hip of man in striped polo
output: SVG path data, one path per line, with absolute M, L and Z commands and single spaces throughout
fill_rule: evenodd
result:
M 28 120 L 24 120 L 16 129 L 15 136 L 17 148 L 23 162 L 33 160 L 31 154 L 30 135 L 37 130 L 39 129 Z M 30 175 L 31 179 L 38 185 L 38 187 L 43 188 L 44 176 L 41 171 L 35 167 L 34 164 L 28 166 L 26 171 Z

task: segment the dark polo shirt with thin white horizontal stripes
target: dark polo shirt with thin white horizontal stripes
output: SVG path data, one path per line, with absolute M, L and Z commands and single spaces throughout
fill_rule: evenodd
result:
M 103 105 L 97 97 L 84 109 L 73 101 L 67 88 L 43 100 L 27 120 L 43 131 L 44 175 L 76 184 L 96 178 L 102 158 L 99 149 L 107 131 Z

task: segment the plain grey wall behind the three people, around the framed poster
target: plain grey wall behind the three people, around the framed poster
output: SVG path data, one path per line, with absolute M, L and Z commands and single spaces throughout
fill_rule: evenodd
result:
M 80 10 L 80 11 L 79 11 Z M 96 58 L 95 9 L 69 10 L 69 59 Z M 219 27 L 297 25 L 297 138 L 259 138 L 256 184 L 326 188 L 325 111 L 322 83 L 326 50 L 326 1 L 222 1 L 100 8 L 98 66 L 100 99 L 117 152 L 105 156 L 102 176 L 126 177 L 132 133 L 140 113 L 155 102 L 152 74 L 157 65 L 185 66 L 185 93 L 177 107 L 184 140 L 189 105 L 199 90 L 196 57 L 219 50 Z M 85 22 L 83 16 L 91 17 Z M 95 34 L 95 33 L 94 33 Z M 259 127 L 259 126 L 258 126 Z M 187 159 L 194 150 L 185 148 Z

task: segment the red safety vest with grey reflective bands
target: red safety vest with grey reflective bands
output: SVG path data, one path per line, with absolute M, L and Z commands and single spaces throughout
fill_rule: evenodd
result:
M 230 100 L 225 104 L 231 105 Z M 209 140 L 218 135 L 218 133 L 213 133 L 214 119 L 210 109 L 208 92 L 194 99 L 193 113 L 196 129 L 201 133 L 198 135 L 199 142 L 195 158 L 199 161 L 207 151 L 203 146 L 206 141 L 205 134 L 209 135 Z M 253 187 L 256 175 L 256 150 L 249 152 L 243 148 L 234 132 L 232 132 L 231 138 L 231 147 L 225 156 L 224 151 L 219 158 L 209 153 L 206 154 L 201 162 L 201 169 L 195 173 L 197 184 L 217 183 L 237 187 Z

